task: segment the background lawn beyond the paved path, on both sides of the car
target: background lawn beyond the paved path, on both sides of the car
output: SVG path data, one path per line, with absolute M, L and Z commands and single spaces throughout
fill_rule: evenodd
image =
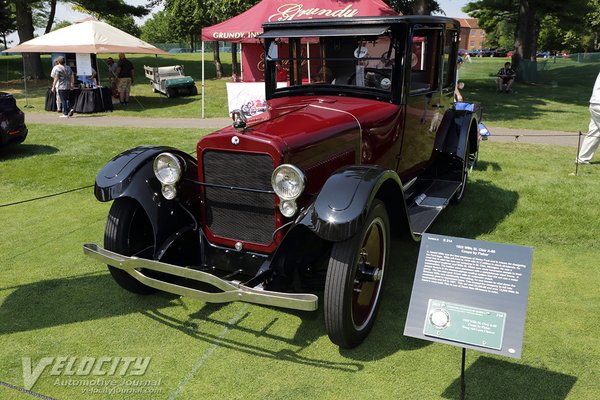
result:
M 102 55 L 105 59 L 108 55 Z M 115 55 L 116 57 L 116 55 Z M 149 80 L 144 76 L 144 65 L 182 64 L 185 73 L 196 80 L 201 89 L 201 54 L 180 53 L 169 56 L 128 56 L 136 70 L 136 80 L 132 94 L 136 101 L 123 110 L 116 107 L 116 116 L 140 117 L 200 117 L 200 95 L 167 99 L 152 93 Z M 227 92 L 225 83 L 228 78 L 214 79 L 215 68 L 212 54 L 206 54 L 205 116 L 227 117 Z M 221 54 L 225 75 L 231 74 L 231 54 Z M 540 62 L 544 66 L 539 81 L 535 85 L 516 84 L 511 95 L 496 93 L 496 72 L 508 59 L 474 58 L 472 63 L 465 62 L 460 78 L 465 82 L 462 90 L 465 101 L 483 106 L 484 120 L 489 126 L 521 129 L 546 129 L 566 132 L 587 131 L 589 121 L 589 98 L 598 72 L 598 63 L 577 63 L 572 60 L 558 59 Z M 46 73 L 50 72 L 50 56 L 43 56 L 42 63 Z M 106 77 L 106 68 L 102 61 L 100 74 Z M 26 104 L 22 77 L 23 66 L 20 56 L 0 57 L 0 90 L 14 93 L 19 105 Z M 48 81 L 30 82 L 27 102 L 34 108 L 27 112 L 45 112 L 44 101 Z M 141 106 L 140 106 L 141 104 Z

